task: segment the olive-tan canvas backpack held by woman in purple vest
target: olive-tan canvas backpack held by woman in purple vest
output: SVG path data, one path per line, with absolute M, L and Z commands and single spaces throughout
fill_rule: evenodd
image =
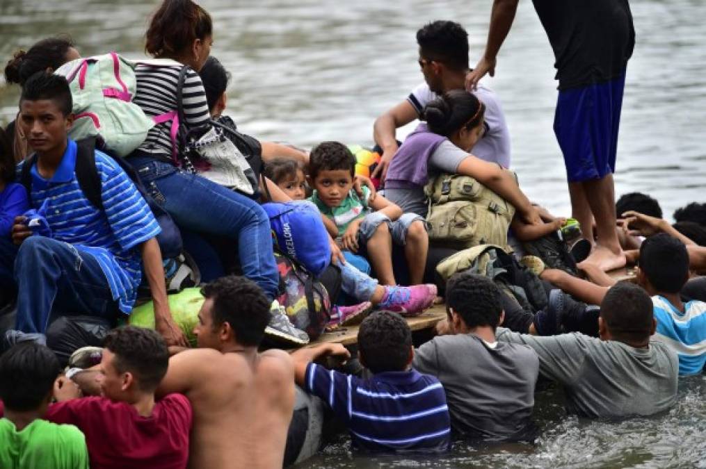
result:
M 442 173 L 424 187 L 429 240 L 449 248 L 494 244 L 508 250 L 515 207 L 469 176 Z

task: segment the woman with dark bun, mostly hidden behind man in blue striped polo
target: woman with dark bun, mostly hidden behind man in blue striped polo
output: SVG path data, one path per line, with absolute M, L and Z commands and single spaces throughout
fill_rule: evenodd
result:
M 13 54 L 5 66 L 5 81 L 8 84 L 24 86 L 30 76 L 37 72 L 52 72 L 68 61 L 79 59 L 71 37 L 47 37 L 30 47 L 28 51 L 22 49 Z M 28 148 L 25 135 L 15 121 L 8 124 L 5 129 L 10 148 L 15 162 L 18 163 L 27 156 Z

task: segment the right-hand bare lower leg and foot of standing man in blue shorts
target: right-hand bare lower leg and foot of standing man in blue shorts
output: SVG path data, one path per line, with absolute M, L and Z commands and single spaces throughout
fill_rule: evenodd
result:
M 607 272 L 626 264 L 626 257 L 616 232 L 616 201 L 613 175 L 584 181 L 586 198 L 596 219 L 596 248 L 584 261 Z

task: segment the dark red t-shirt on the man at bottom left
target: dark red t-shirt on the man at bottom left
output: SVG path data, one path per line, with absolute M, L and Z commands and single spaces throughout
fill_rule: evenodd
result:
M 76 425 L 92 469 L 184 469 L 189 461 L 191 403 L 169 394 L 141 417 L 128 403 L 85 397 L 49 406 L 46 420 Z

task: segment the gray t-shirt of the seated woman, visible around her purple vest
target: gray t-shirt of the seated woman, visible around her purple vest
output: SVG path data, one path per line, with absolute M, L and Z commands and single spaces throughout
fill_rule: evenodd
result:
M 426 164 L 429 180 L 433 179 L 438 173 L 455 173 L 458 165 L 468 158 L 469 154 L 464 152 L 450 140 L 444 140 L 436 147 L 436 150 L 429 157 L 429 162 Z M 395 203 L 405 213 L 416 213 L 420 217 L 426 218 L 426 212 L 429 212 L 429 204 L 424 195 L 424 187 L 421 185 L 415 188 L 405 189 L 385 189 L 385 199 Z

